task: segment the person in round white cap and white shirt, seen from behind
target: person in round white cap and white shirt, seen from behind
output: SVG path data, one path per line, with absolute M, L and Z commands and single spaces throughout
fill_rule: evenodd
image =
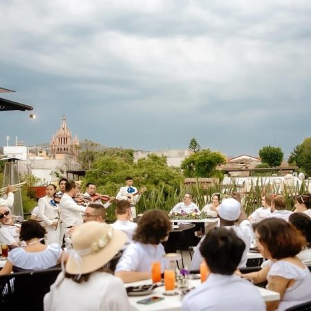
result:
M 249 220 L 247 220 L 244 209 L 234 198 L 223 199 L 219 205 L 218 216 L 220 218 L 220 227 L 234 229 L 236 235 L 245 243 L 245 251 L 243 252 L 241 262 L 238 264 L 238 267 L 246 267 L 247 253 L 253 240 L 254 230 L 252 228 L 252 224 L 249 223 Z M 200 267 L 202 256 L 199 248 L 202 241 L 204 241 L 204 237 L 196 247 L 194 256 L 192 257 L 190 270 L 198 270 Z

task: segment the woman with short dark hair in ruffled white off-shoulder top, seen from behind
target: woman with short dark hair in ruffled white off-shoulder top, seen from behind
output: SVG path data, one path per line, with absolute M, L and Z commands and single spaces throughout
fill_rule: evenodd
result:
M 26 242 L 26 247 L 17 247 L 8 254 L 6 265 L 0 275 L 9 274 L 14 267 L 20 270 L 45 270 L 57 265 L 62 256 L 59 244 L 44 245 L 41 241 L 46 234 L 46 229 L 37 220 L 27 220 L 21 224 L 19 238 Z

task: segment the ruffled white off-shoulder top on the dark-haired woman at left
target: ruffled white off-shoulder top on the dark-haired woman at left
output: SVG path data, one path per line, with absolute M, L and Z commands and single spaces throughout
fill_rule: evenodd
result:
M 57 261 L 62 254 L 62 248 L 59 244 L 48 245 L 42 252 L 26 252 L 22 247 L 12 249 L 8 254 L 8 261 L 26 270 L 44 270 L 57 265 Z

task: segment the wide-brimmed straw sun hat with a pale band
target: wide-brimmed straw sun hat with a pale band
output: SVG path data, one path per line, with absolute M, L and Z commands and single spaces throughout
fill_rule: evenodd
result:
M 108 263 L 126 242 L 126 234 L 96 221 L 79 225 L 72 235 L 73 252 L 66 263 L 69 274 L 85 274 Z

